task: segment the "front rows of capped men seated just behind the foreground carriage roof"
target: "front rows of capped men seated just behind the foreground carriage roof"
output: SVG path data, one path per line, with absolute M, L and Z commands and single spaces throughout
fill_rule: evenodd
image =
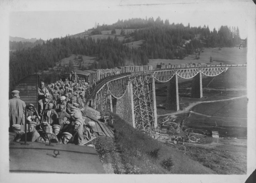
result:
M 67 116 L 68 117 L 68 116 Z M 83 145 L 89 141 L 94 134 L 95 122 L 85 122 L 77 113 L 69 116 L 65 125 L 49 124 L 48 122 L 38 122 L 39 117 L 30 116 L 27 125 L 27 142 L 45 142 L 67 144 L 73 143 Z M 25 132 L 21 130 L 21 125 L 13 124 L 11 132 L 16 133 L 14 141 L 25 141 Z

